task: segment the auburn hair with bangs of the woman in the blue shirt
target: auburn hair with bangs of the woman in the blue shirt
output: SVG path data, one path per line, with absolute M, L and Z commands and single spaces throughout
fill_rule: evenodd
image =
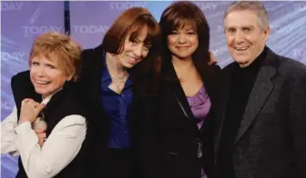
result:
M 133 42 L 144 27 L 148 27 L 145 44 L 153 44 L 155 36 L 159 33 L 158 22 L 146 8 L 128 8 L 110 26 L 104 36 L 102 46 L 110 54 L 120 54 L 123 51 L 126 38 L 129 37 L 129 40 Z

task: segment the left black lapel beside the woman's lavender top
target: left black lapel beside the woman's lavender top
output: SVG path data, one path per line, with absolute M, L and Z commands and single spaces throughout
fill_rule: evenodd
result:
M 191 126 L 192 129 L 198 132 L 199 129 L 197 126 L 196 118 L 192 114 L 192 111 L 190 109 L 189 102 L 184 93 L 184 90 L 179 84 L 179 78 L 175 72 L 174 66 L 172 63 L 168 63 L 165 65 L 167 66 L 166 73 L 168 75 L 168 78 L 170 79 L 170 81 L 166 82 L 168 94 L 171 94 L 173 98 L 175 98 L 175 102 L 179 105 L 179 109 L 182 112 L 182 114 L 185 115 L 186 120 L 189 122 L 190 125 L 192 125 Z

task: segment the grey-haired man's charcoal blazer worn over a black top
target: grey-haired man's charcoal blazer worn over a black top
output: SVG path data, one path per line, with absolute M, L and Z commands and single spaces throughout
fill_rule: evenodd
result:
M 216 154 L 233 71 L 234 64 L 222 71 L 222 100 L 215 124 Z M 236 177 L 306 177 L 305 137 L 306 66 L 268 49 L 234 143 Z

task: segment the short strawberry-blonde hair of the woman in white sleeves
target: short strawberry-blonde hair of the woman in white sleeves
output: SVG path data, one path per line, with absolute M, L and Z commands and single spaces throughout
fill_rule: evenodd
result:
M 72 80 L 76 81 L 80 72 L 80 45 L 67 35 L 56 32 L 48 32 L 36 37 L 32 45 L 29 64 L 31 65 L 34 57 L 46 57 L 47 60 L 58 64 L 59 68 Z

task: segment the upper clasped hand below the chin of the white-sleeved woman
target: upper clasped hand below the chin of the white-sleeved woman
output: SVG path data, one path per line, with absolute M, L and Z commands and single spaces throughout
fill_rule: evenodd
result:
M 19 124 L 26 121 L 31 124 L 36 120 L 38 114 L 44 109 L 45 104 L 39 104 L 33 99 L 24 99 L 21 103 Z

